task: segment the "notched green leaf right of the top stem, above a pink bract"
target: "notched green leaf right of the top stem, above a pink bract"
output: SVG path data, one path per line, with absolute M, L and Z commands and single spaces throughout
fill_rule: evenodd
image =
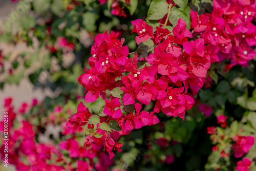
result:
M 179 18 L 184 20 L 187 24 L 186 28 L 189 29 L 191 24 L 190 16 L 185 12 L 185 10 L 177 8 L 170 12 L 169 21 L 173 24 L 173 27 L 177 25 Z

